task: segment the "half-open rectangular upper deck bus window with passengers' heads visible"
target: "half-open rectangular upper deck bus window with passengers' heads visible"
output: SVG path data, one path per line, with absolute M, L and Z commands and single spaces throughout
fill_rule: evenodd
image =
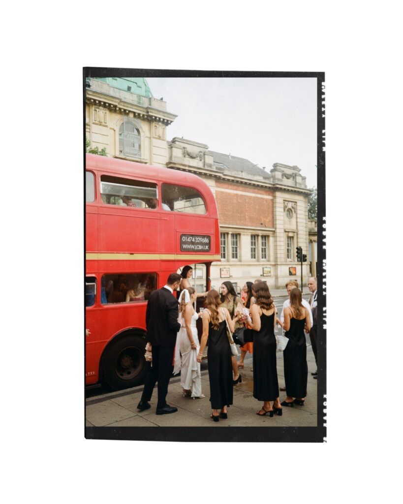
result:
M 101 175 L 101 198 L 107 205 L 157 208 L 157 184 L 144 180 Z

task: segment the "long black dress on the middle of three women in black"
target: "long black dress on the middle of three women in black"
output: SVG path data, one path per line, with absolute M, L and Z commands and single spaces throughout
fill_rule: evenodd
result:
M 279 397 L 277 379 L 275 312 L 260 316 L 260 331 L 253 331 L 253 397 L 274 401 Z

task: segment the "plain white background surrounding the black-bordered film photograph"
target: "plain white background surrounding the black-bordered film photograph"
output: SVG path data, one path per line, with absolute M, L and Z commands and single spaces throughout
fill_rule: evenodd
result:
M 3 12 L 6 501 L 391 499 L 401 437 L 396 3 L 142 5 Z M 84 439 L 83 66 L 326 72 L 327 444 Z

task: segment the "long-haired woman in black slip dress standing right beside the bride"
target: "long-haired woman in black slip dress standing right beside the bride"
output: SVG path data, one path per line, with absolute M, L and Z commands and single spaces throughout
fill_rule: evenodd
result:
M 227 407 L 232 404 L 232 363 L 231 348 L 227 336 L 227 323 L 231 332 L 234 332 L 234 322 L 240 316 L 231 320 L 227 308 L 220 306 L 220 295 L 216 290 L 207 294 L 203 311 L 203 335 L 200 341 L 200 350 L 197 354 L 197 362 L 201 362 L 203 350 L 209 341 L 207 352 L 207 365 L 210 381 L 210 402 L 212 414 L 210 417 L 219 421 L 219 417 L 227 418 Z M 220 410 L 220 412 L 218 411 Z

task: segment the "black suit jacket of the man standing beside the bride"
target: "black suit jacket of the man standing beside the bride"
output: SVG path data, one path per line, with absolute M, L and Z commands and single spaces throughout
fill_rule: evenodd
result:
M 154 290 L 147 303 L 147 341 L 152 345 L 173 348 L 181 328 L 178 322 L 178 301 L 165 289 Z

